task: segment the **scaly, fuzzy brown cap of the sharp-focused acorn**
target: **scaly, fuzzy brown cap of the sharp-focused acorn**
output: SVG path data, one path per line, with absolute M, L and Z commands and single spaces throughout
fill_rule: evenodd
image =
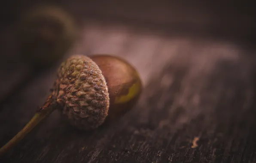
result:
M 107 83 L 98 65 L 86 56 L 73 55 L 61 64 L 54 91 L 62 115 L 80 129 L 97 128 L 107 117 Z

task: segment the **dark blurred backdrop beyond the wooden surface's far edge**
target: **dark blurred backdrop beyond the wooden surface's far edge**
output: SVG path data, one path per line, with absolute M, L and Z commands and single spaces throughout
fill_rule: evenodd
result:
M 122 23 L 169 33 L 212 35 L 222 38 L 255 39 L 255 3 L 233 1 L 42 1 L 10 0 L 1 5 L 3 22 L 13 22 L 18 15 L 38 3 L 61 5 L 79 21 L 93 20 Z

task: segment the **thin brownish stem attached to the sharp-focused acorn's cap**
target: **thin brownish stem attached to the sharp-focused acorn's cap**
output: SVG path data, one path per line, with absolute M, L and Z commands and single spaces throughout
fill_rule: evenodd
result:
M 0 156 L 6 153 L 9 149 L 15 146 L 18 142 L 20 142 L 34 127 L 37 126 L 42 120 L 47 118 L 55 109 L 56 105 L 52 98 L 53 96 L 50 95 L 44 104 L 43 107 L 34 115 L 34 117 L 26 124 L 26 126 L 17 133 L 6 145 L 0 148 Z

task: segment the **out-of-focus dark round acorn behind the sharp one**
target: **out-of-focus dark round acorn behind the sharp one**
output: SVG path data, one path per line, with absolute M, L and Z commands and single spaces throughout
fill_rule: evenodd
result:
M 49 66 L 72 47 L 77 30 L 73 18 L 60 7 L 33 7 L 17 26 L 20 53 L 33 66 Z

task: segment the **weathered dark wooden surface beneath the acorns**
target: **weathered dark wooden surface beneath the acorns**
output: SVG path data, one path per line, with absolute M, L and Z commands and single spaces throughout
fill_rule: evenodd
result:
M 3 99 L 32 71 L 10 46 L 12 28 L 1 36 Z M 117 123 L 91 132 L 70 127 L 53 112 L 0 162 L 256 163 L 255 52 L 232 39 L 85 21 L 69 55 L 104 53 L 128 60 L 143 80 L 139 102 Z M 1 146 L 44 103 L 58 64 L 34 74 L 1 103 Z

